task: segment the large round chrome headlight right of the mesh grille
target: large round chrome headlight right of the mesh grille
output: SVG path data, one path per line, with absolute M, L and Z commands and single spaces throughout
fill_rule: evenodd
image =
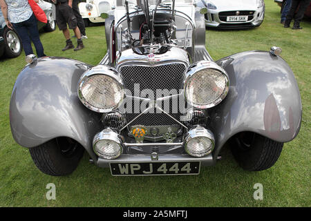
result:
M 185 99 L 196 108 L 211 108 L 225 99 L 229 78 L 223 68 L 213 61 L 199 61 L 185 76 Z

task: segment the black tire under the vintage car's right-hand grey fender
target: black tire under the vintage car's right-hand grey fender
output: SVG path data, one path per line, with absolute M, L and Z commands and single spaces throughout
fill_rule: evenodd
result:
M 232 153 L 246 171 L 263 171 L 273 166 L 281 155 L 283 143 L 252 132 L 243 132 L 231 140 Z

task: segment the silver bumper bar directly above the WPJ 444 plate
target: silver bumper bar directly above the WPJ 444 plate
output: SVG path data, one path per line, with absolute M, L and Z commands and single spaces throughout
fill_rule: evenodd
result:
M 150 154 L 122 154 L 115 160 L 105 160 L 98 158 L 97 166 L 106 168 L 110 163 L 140 163 L 140 162 L 201 162 L 202 166 L 214 166 L 216 160 L 213 160 L 211 154 L 205 157 L 191 157 L 187 154 L 159 154 L 158 160 L 151 160 Z

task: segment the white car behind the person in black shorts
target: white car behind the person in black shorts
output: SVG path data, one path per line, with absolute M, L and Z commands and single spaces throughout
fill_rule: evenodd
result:
M 100 15 L 109 12 L 112 9 L 113 2 L 113 0 L 86 0 L 86 2 L 79 3 L 79 12 L 84 19 L 85 26 L 88 26 L 90 22 L 104 22 L 105 19 Z

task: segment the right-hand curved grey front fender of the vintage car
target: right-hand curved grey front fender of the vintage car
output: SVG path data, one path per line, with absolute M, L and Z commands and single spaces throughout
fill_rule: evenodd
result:
M 227 140 L 251 131 L 290 142 L 301 126 L 301 97 L 290 66 L 270 52 L 241 52 L 216 61 L 229 75 L 229 93 L 211 110 L 215 155 Z

